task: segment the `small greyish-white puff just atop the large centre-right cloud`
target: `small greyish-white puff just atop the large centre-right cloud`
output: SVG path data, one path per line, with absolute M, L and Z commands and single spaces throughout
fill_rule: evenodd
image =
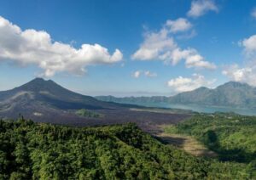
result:
M 189 20 L 183 18 L 166 21 L 166 28 L 170 28 L 172 33 L 176 33 L 178 31 L 188 31 L 191 27 L 192 24 L 189 22 Z

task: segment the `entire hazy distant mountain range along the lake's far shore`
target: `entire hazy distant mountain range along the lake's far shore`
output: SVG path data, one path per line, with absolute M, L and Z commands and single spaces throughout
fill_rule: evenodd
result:
M 249 86 L 247 83 L 227 82 L 214 89 L 200 87 L 194 91 L 178 93 L 172 97 L 153 96 L 115 98 L 113 96 L 97 96 L 96 98 L 102 101 L 122 104 L 196 104 L 255 109 L 256 87 Z

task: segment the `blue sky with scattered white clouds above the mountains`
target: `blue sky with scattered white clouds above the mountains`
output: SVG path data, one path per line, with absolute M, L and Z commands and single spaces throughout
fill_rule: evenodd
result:
M 2 0 L 0 90 L 35 77 L 92 96 L 256 86 L 256 2 Z

